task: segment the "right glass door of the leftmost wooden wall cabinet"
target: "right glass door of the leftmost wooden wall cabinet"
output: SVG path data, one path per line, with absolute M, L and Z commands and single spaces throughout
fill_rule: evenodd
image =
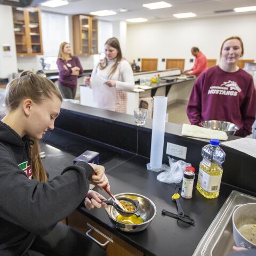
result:
M 27 9 L 28 18 L 28 42 L 30 43 L 30 54 L 43 54 L 41 38 L 41 13 L 35 8 Z

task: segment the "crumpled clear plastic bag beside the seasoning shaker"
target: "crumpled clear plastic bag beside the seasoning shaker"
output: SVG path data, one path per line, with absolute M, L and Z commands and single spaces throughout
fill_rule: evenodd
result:
M 180 183 L 186 167 L 191 166 L 191 164 L 182 160 L 177 161 L 170 156 L 168 158 L 170 167 L 163 164 L 165 171 L 157 175 L 157 180 L 165 183 Z

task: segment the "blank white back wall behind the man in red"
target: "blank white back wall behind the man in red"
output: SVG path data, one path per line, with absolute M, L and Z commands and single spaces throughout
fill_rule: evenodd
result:
M 186 59 L 185 69 L 193 66 L 189 59 L 192 46 L 197 46 L 208 59 L 219 60 L 221 43 L 229 36 L 241 36 L 244 59 L 256 62 L 256 14 L 187 19 L 127 26 L 127 59 L 158 58 L 158 69 L 165 69 L 162 58 Z M 139 65 L 141 65 L 140 62 Z

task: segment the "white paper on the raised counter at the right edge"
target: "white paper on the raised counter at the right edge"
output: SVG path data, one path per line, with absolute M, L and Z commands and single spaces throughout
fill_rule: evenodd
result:
M 222 142 L 222 145 L 239 150 L 249 156 L 256 157 L 256 140 L 252 138 L 241 138 Z

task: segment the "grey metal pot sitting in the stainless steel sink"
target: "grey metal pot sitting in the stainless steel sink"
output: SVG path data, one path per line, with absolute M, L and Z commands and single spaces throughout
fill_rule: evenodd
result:
M 245 247 L 247 249 L 256 248 L 256 243 L 252 243 L 245 238 L 239 231 L 241 227 L 247 228 L 246 225 L 256 225 L 256 204 L 244 204 L 234 211 L 233 217 L 233 236 L 237 247 Z

